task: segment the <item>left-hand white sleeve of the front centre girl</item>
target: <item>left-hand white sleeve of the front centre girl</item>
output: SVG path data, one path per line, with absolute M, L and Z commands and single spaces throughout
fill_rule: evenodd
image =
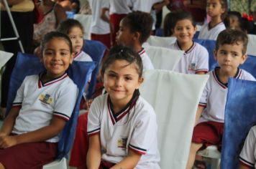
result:
M 88 112 L 87 134 L 89 136 L 99 134 L 101 130 L 101 99 L 102 97 L 100 96 L 93 100 Z

